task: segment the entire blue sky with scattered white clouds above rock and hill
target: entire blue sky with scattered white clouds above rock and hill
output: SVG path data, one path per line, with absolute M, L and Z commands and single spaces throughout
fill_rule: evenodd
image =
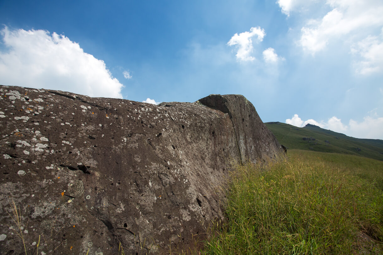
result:
M 147 103 L 241 94 L 264 122 L 383 139 L 383 1 L 0 0 L 0 84 Z

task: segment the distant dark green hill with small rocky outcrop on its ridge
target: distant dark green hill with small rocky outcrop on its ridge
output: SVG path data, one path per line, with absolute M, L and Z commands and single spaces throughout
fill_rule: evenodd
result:
M 265 124 L 288 149 L 336 152 L 383 160 L 383 140 L 358 139 L 310 124 L 305 127 L 280 122 Z

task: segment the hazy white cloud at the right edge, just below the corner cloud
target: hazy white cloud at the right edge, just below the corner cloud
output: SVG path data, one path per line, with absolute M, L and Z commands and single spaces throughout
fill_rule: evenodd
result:
M 362 58 L 362 60 L 355 62 L 355 69 L 359 74 L 372 74 L 383 71 L 383 40 L 377 36 L 368 36 L 366 39 L 354 44 L 351 52 Z

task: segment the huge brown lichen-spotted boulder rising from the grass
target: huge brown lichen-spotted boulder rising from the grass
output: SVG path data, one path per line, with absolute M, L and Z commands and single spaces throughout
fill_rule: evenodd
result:
M 0 250 L 169 253 L 223 219 L 230 159 L 281 147 L 241 95 L 158 106 L 0 86 Z M 200 239 L 203 236 L 200 236 Z M 43 254 L 44 254 L 43 253 Z

